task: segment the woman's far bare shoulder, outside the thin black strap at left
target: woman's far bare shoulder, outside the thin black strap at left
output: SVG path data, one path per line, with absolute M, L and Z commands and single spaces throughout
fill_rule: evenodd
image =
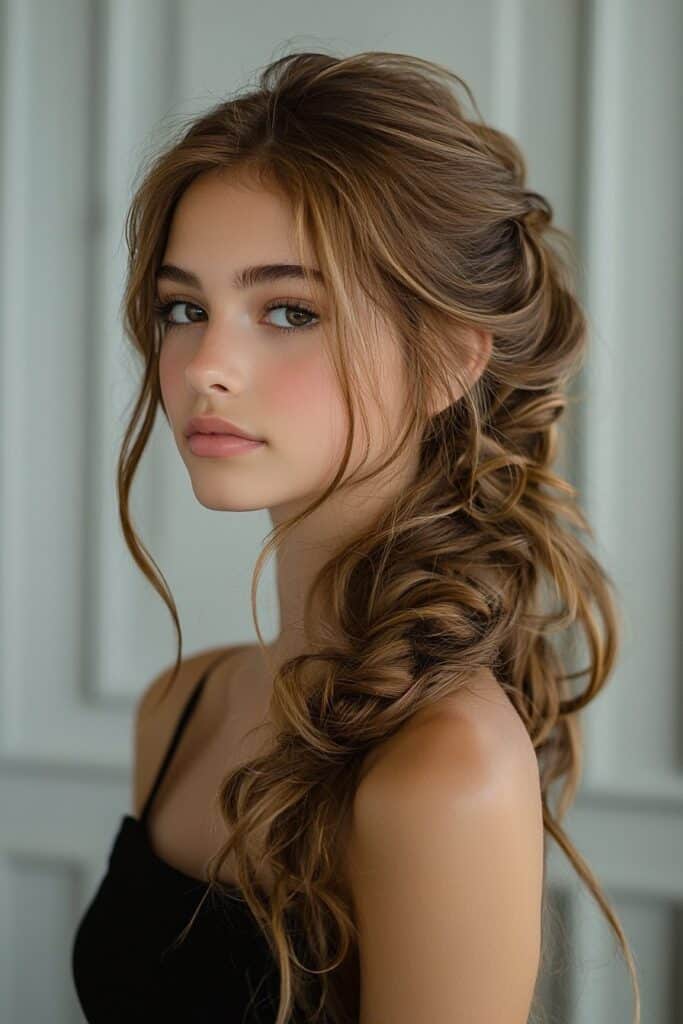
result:
M 237 647 L 236 647 L 237 649 Z M 166 666 L 145 686 L 135 708 L 133 735 L 133 809 L 138 814 L 160 759 L 169 741 L 193 687 L 204 670 L 221 651 L 229 647 L 210 647 L 183 658 L 171 683 L 175 662 Z

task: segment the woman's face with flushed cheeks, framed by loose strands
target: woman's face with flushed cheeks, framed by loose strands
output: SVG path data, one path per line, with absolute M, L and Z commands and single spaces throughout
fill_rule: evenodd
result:
M 220 171 L 197 178 L 174 212 L 162 263 L 190 271 L 199 284 L 159 275 L 159 300 L 173 300 L 164 314 L 173 323 L 162 328 L 160 385 L 193 488 L 208 508 L 280 509 L 273 520 L 291 515 L 327 486 L 343 455 L 348 424 L 323 339 L 329 328 L 323 285 L 313 294 L 296 276 L 244 288 L 233 281 L 246 267 L 296 264 L 294 239 L 280 195 Z M 306 265 L 314 262 L 307 258 Z M 291 308 L 297 305 L 308 311 Z M 382 393 L 371 398 L 399 430 L 402 365 L 388 333 L 378 343 Z M 391 439 L 379 406 L 365 403 L 372 463 Z M 264 443 L 226 458 L 197 455 L 185 430 L 190 417 L 202 415 L 225 417 Z M 361 435 L 356 421 L 347 475 L 362 454 Z

